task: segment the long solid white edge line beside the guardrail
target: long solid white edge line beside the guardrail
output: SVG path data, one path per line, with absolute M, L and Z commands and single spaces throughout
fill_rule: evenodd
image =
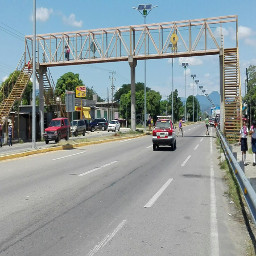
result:
M 210 139 L 210 152 L 212 154 L 212 137 Z M 211 156 L 212 159 L 212 156 Z M 214 180 L 214 169 L 213 162 L 211 160 L 211 255 L 219 255 L 219 234 L 218 234 L 218 223 L 217 223 L 217 207 L 216 207 L 216 192 L 215 192 L 215 180 Z

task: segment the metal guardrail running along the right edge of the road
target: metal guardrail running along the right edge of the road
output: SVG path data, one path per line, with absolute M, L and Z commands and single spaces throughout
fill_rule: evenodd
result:
M 245 176 L 241 166 L 238 164 L 236 158 L 234 157 L 226 138 L 218 128 L 216 129 L 216 131 L 217 131 L 217 136 L 220 138 L 221 146 L 226 156 L 226 159 L 229 163 L 229 166 L 231 167 L 232 171 L 235 174 L 235 177 L 241 188 L 243 196 L 250 209 L 253 221 L 256 224 L 256 192 L 254 191 L 251 183 Z

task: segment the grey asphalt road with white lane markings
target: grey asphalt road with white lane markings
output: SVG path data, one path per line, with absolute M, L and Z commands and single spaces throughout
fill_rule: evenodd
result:
M 0 162 L 0 255 L 245 255 L 204 133 L 185 127 L 175 151 L 145 136 Z

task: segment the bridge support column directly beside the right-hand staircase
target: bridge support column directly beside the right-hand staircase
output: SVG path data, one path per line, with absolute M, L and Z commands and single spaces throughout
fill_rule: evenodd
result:
M 220 50 L 219 55 L 220 63 L 220 130 L 224 132 L 224 120 L 225 120 L 225 109 L 224 109 L 224 63 L 223 63 L 223 48 Z

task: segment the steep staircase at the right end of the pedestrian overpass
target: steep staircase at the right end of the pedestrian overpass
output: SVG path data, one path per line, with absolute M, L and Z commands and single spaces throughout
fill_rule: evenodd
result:
M 238 48 L 224 49 L 223 58 L 224 134 L 229 141 L 237 141 L 242 116 Z

